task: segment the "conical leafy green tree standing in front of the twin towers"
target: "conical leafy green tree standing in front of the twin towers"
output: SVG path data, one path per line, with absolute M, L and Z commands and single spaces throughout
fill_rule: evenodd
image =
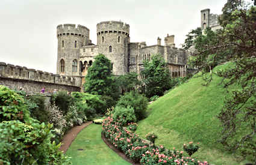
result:
M 89 68 L 84 83 L 84 91 L 93 95 L 106 95 L 117 100 L 120 90 L 116 77 L 112 74 L 111 62 L 104 55 L 99 54 Z

